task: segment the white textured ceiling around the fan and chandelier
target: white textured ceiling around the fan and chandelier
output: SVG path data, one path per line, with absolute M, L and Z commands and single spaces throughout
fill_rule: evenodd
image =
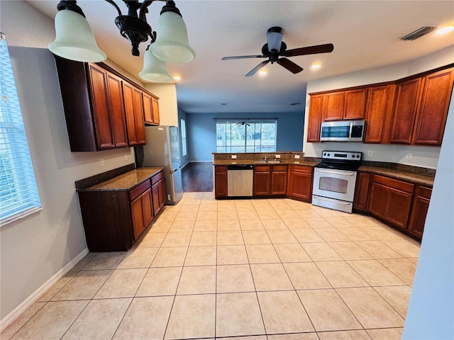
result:
M 28 1 L 55 17 L 58 1 Z M 167 64 L 179 74 L 179 107 L 187 113 L 292 112 L 304 106 L 306 82 L 338 74 L 414 60 L 454 44 L 454 33 L 428 35 L 414 41 L 399 37 L 421 26 L 454 24 L 454 1 L 184 1 L 176 0 L 187 24 L 196 59 Z M 123 1 L 116 3 L 126 13 Z M 77 1 L 109 60 L 137 75 L 140 57 L 114 23 L 116 9 L 105 1 Z M 157 28 L 161 1 L 149 7 L 148 23 Z M 262 59 L 222 61 L 233 55 L 260 55 L 267 29 L 281 26 L 287 49 L 332 42 L 334 51 L 290 58 L 304 68 L 292 74 L 278 64 L 267 64 L 268 74 L 244 77 Z M 454 58 L 453 58 L 454 61 Z M 310 66 L 321 62 L 313 71 Z M 228 103 L 228 106 L 220 106 Z M 290 105 L 301 103 L 301 106 Z

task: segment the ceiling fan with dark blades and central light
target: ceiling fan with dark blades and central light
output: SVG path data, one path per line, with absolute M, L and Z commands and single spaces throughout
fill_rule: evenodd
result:
M 253 76 L 259 69 L 271 62 L 281 65 L 288 69 L 293 74 L 297 74 L 303 70 L 302 67 L 287 59 L 287 57 L 295 57 L 297 55 L 315 55 L 317 53 L 333 52 L 333 44 L 315 45 L 308 47 L 299 47 L 292 50 L 287 50 L 287 45 L 282 41 L 282 28 L 272 27 L 267 31 L 267 43 L 262 47 L 262 55 L 238 55 L 236 57 L 223 57 L 222 60 L 236 60 L 248 58 L 268 58 L 260 62 L 256 67 L 250 70 L 245 77 Z

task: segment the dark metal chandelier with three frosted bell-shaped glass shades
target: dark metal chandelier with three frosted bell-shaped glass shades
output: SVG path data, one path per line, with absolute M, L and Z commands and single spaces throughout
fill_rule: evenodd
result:
M 131 42 L 132 55 L 138 56 L 139 45 L 150 45 L 145 52 L 143 70 L 139 77 L 151 82 L 170 82 L 172 77 L 167 71 L 166 62 L 184 63 L 194 60 L 195 52 L 189 46 L 187 28 L 174 1 L 165 1 L 157 22 L 157 33 L 147 23 L 145 14 L 153 1 L 126 1 L 128 15 L 112 0 L 105 0 L 118 11 L 115 19 L 121 35 Z M 77 62 L 103 62 L 107 55 L 96 45 L 92 28 L 85 18 L 77 1 L 62 0 L 57 5 L 55 16 L 55 40 L 48 45 L 50 52 Z

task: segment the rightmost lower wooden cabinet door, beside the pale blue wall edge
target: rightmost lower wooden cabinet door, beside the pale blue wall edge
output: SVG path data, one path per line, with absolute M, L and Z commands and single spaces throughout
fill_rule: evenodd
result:
M 423 237 L 424 225 L 426 224 L 426 216 L 431 195 L 431 188 L 416 186 L 413 205 L 411 206 L 408 231 L 410 234 L 418 237 L 419 239 Z

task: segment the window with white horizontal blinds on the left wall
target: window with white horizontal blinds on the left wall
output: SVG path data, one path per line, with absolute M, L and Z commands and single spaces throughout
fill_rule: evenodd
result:
M 40 210 L 5 35 L 0 33 L 0 225 Z

